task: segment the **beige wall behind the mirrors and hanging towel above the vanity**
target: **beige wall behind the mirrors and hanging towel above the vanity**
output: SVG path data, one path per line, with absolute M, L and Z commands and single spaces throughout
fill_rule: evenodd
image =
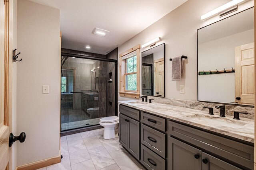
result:
M 188 0 L 160 20 L 156 21 L 136 36 L 118 47 L 118 55 L 137 44 L 144 44 L 156 37 L 166 43 L 166 98 L 197 100 L 197 29 L 220 20 L 218 16 L 202 21 L 200 17 L 230 0 Z M 253 0 L 239 6 L 240 12 L 253 6 Z M 234 13 L 230 14 L 233 15 Z M 228 15 L 229 16 L 229 15 Z M 226 16 L 226 17 L 228 17 Z M 223 18 L 222 18 L 223 19 Z M 135 23 L 136 24 L 136 23 Z M 149 49 L 146 47 L 141 52 Z M 171 80 L 170 58 L 186 55 L 185 74 L 180 81 Z M 119 73 L 118 73 L 119 74 Z M 179 93 L 179 86 L 185 85 L 185 94 Z M 118 95 L 118 100 L 133 100 Z

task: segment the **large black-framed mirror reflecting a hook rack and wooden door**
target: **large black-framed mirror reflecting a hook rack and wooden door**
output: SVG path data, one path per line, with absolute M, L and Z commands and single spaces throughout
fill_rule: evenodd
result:
M 254 8 L 198 29 L 198 100 L 254 105 Z

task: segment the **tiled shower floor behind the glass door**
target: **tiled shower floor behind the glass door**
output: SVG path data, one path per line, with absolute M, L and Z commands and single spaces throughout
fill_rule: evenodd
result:
M 82 120 L 82 121 L 73 121 L 69 123 L 61 123 L 61 130 L 69 130 L 69 129 L 76 129 L 80 127 L 86 127 L 91 125 L 98 125 L 100 124 L 100 119 L 103 117 L 95 118 L 95 119 L 88 119 L 88 120 Z M 88 124 L 88 125 L 86 125 Z

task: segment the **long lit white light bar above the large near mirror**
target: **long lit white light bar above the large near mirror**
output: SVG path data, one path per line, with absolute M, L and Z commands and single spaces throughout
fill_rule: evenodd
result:
M 232 1 L 230 1 L 230 2 L 228 2 L 228 3 L 226 3 L 226 4 L 224 4 L 224 5 L 222 5 L 222 6 L 218 7 L 218 8 L 216 8 L 215 10 L 212 10 L 212 11 L 210 11 L 210 12 L 208 12 L 208 13 L 202 15 L 202 16 L 201 16 L 201 20 L 205 20 L 206 18 L 209 18 L 209 17 L 211 17 L 211 16 L 214 16 L 214 15 L 216 15 L 216 14 L 218 14 L 218 13 L 220 13 L 220 12 L 222 12 L 222 11 L 224 11 L 224 10 L 226 10 L 226 9 L 228 9 L 228 8 L 230 8 L 230 7 L 232 7 L 232 6 L 235 6 L 235 5 L 237 5 L 237 4 L 241 3 L 241 2 L 243 2 L 243 1 L 246 1 L 246 0 L 232 0 Z

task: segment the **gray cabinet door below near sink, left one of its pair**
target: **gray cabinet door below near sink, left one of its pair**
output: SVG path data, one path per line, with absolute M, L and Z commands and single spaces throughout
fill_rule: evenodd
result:
M 200 170 L 202 151 L 168 137 L 168 170 Z

